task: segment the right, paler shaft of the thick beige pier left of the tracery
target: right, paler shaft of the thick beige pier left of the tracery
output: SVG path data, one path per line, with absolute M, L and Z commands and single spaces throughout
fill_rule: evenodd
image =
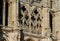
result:
M 17 2 L 16 1 L 18 1 L 18 0 L 14 0 L 15 2 L 13 2 L 12 3 L 12 14 L 14 15 L 12 15 L 13 16 L 13 20 L 14 20 L 14 28 L 16 29 L 17 28 Z

